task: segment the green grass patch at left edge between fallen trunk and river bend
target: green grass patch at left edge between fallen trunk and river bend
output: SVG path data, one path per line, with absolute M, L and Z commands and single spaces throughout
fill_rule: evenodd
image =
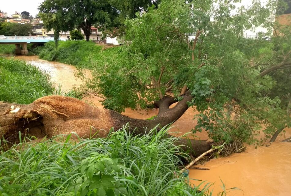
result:
M 0 57 L 1 101 L 29 104 L 53 92 L 53 83 L 47 73 L 25 61 Z

